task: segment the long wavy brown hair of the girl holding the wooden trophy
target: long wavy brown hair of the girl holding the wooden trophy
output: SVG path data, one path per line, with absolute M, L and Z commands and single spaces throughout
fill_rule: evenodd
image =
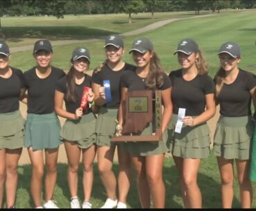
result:
M 145 81 L 145 85 L 149 89 L 163 86 L 163 67 L 159 57 L 152 51 L 152 58 L 150 59 L 149 75 Z

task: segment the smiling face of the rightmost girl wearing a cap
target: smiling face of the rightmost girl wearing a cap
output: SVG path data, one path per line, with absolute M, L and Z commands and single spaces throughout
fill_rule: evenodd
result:
M 241 58 L 235 59 L 228 53 L 221 53 L 219 55 L 219 61 L 221 62 L 221 67 L 224 71 L 232 71 L 237 68 L 238 63 L 240 62 Z

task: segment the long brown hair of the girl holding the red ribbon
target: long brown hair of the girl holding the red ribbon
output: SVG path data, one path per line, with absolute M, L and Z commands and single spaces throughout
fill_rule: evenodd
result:
M 78 100 L 77 93 L 75 91 L 75 68 L 73 66 L 73 60 L 71 59 L 72 66 L 66 74 L 66 100 L 68 102 L 76 102 Z

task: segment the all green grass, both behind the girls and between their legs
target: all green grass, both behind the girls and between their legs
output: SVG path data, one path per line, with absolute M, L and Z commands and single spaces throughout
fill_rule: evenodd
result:
M 242 60 L 239 63 L 241 68 L 256 73 L 255 59 L 255 39 L 256 39 L 256 10 L 232 10 L 216 14 L 211 17 L 199 19 L 183 19 L 173 22 L 162 28 L 158 28 L 143 35 L 125 37 L 126 53 L 124 59 L 133 63 L 131 55 L 128 54 L 132 41 L 136 37 L 149 37 L 154 42 L 156 53 L 161 58 L 165 71 L 170 72 L 179 68 L 176 55 L 173 55 L 180 39 L 191 37 L 198 42 L 201 51 L 210 64 L 209 73 L 214 76 L 219 68 L 217 52 L 219 46 L 226 41 L 238 42 L 241 46 Z M 86 39 L 101 37 L 109 33 L 125 33 L 129 30 L 141 28 L 154 21 L 166 18 L 191 17 L 192 12 L 169 12 L 156 19 L 150 19 L 149 14 L 134 15 L 134 24 L 127 24 L 127 15 L 91 15 L 91 16 L 68 16 L 65 19 L 57 20 L 53 17 L 41 18 L 1 18 L 3 32 L 7 33 L 7 42 L 10 46 L 23 46 L 33 44 L 39 37 L 55 39 Z M 118 18 L 117 18 L 118 17 Z M 77 19 L 80 18 L 80 21 Z M 118 19 L 118 21 L 116 21 Z M 32 30 L 30 35 L 24 35 Z M 35 35 L 38 32 L 38 35 Z M 9 34 L 8 34 L 9 33 Z M 34 36 L 35 35 L 35 36 Z M 34 37 L 33 37 L 34 36 Z M 64 46 L 54 46 L 53 65 L 67 70 L 70 66 L 70 58 L 73 49 L 77 46 L 86 46 L 91 53 L 91 69 L 95 68 L 104 60 L 104 40 L 97 42 L 84 42 L 82 44 L 69 44 Z M 12 53 L 12 66 L 26 71 L 35 65 L 35 60 L 31 51 Z M 100 183 L 96 164 L 95 183 L 91 202 L 94 208 L 100 207 L 106 199 L 104 189 Z M 113 167 L 117 173 L 118 165 Z M 61 208 L 69 207 L 69 191 L 66 181 L 66 164 L 58 164 L 59 177 L 55 190 L 55 199 Z M 79 197 L 82 199 L 82 172 L 80 169 Z M 182 208 L 182 199 L 179 192 L 179 181 L 172 158 L 165 159 L 164 180 L 166 185 L 166 207 Z M 199 172 L 199 186 L 203 195 L 203 208 L 221 208 L 220 176 L 216 158 L 210 156 L 203 160 Z M 29 195 L 30 165 L 19 167 L 19 189 L 17 192 L 17 208 L 32 208 L 33 202 Z M 239 187 L 237 181 L 234 184 L 235 199 L 234 208 L 239 208 Z M 256 184 L 253 183 L 254 202 L 256 208 Z M 138 194 L 135 181 L 132 182 L 131 190 L 127 199 L 131 208 L 139 208 Z

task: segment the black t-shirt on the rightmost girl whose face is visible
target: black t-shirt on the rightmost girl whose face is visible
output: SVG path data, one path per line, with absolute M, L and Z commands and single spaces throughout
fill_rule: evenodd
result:
M 250 89 L 255 86 L 256 76 L 253 73 L 239 69 L 236 80 L 232 84 L 224 83 L 221 88 L 218 98 L 219 113 L 227 117 L 250 116 L 252 101 Z

